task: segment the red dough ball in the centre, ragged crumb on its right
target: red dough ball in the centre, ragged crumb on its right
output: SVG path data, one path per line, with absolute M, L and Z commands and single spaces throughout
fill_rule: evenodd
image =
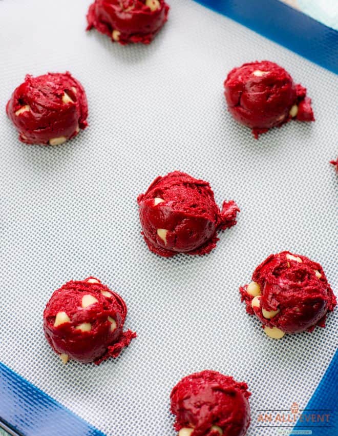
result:
M 179 171 L 157 177 L 137 202 L 145 242 L 165 257 L 209 253 L 217 230 L 234 226 L 239 212 L 233 201 L 220 211 L 208 182 Z

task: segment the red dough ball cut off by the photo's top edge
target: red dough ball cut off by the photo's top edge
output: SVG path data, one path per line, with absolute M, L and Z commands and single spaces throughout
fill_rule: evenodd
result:
M 168 10 L 164 0 L 95 0 L 87 30 L 95 27 L 122 45 L 149 44 L 167 21 Z

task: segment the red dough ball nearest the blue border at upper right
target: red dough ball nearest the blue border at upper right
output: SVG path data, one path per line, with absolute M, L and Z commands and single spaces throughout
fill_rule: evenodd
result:
M 231 70 L 224 82 L 229 112 L 252 129 L 255 137 L 291 119 L 314 121 L 306 88 L 269 61 L 251 62 Z

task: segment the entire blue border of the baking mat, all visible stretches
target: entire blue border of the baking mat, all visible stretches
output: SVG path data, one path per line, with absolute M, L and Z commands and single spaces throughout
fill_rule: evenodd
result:
M 279 0 L 195 1 L 338 73 L 338 32 Z M 317 428 L 315 436 L 338 434 L 337 368 L 338 352 L 305 409 L 318 411 L 325 407 L 331 411 L 331 426 Z M 18 436 L 58 436 L 60 424 L 67 436 L 104 436 L 0 362 L 0 427 Z M 303 424 L 298 422 L 294 429 L 301 430 Z

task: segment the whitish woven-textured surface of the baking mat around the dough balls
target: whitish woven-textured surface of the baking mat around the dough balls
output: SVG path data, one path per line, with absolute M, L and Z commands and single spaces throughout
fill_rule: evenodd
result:
M 169 394 L 205 368 L 246 381 L 258 409 L 304 408 L 336 348 L 335 320 L 269 340 L 238 288 L 273 252 L 322 263 L 336 289 L 336 77 L 192 1 L 170 0 L 150 46 L 85 32 L 90 1 L 0 3 L 1 360 L 109 436 L 174 436 Z M 15 17 L 15 26 L 13 25 Z M 316 122 L 256 141 L 226 111 L 234 66 L 268 59 L 308 88 Z M 89 128 L 57 147 L 27 146 L 5 115 L 26 73 L 70 70 L 86 88 Z M 152 254 L 136 197 L 179 169 L 210 182 L 238 224 L 204 257 Z M 129 307 L 138 338 L 96 367 L 62 365 L 42 313 L 66 281 L 97 276 Z

